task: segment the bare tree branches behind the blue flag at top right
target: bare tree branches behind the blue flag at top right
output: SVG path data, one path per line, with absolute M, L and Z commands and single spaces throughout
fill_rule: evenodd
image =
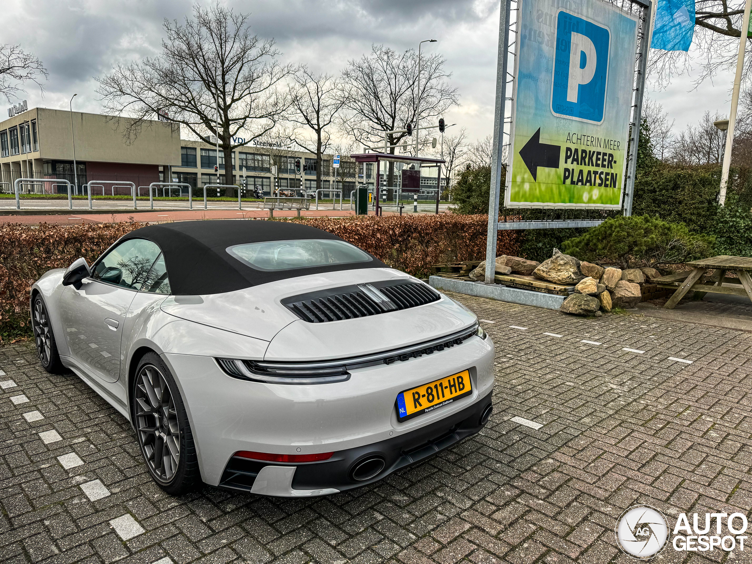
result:
M 690 71 L 699 61 L 702 71 L 696 86 L 719 71 L 733 70 L 739 50 L 744 0 L 696 0 L 693 46 L 689 53 L 653 49 L 648 57 L 648 74 L 656 83 L 667 86 L 673 76 Z M 690 54 L 691 53 L 691 54 Z M 743 79 L 752 77 L 752 41 L 747 41 Z

